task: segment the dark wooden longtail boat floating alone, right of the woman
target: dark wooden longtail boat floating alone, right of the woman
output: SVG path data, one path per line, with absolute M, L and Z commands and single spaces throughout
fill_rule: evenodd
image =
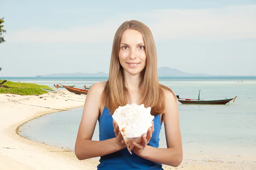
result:
M 226 105 L 228 102 L 232 101 L 235 102 L 236 97 L 234 98 L 230 98 L 230 99 L 216 99 L 216 100 L 204 100 L 204 99 L 200 99 L 200 91 L 198 93 L 198 99 L 183 99 L 180 98 L 179 95 L 177 95 L 177 99 L 180 103 L 182 104 L 194 104 L 194 105 Z

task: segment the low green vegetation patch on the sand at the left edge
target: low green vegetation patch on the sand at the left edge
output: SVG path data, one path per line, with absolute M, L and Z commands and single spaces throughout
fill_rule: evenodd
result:
M 3 80 L 0 80 L 3 82 Z M 19 95 L 41 95 L 47 94 L 47 91 L 43 91 L 41 88 L 49 88 L 47 85 L 37 85 L 32 83 L 25 83 L 25 82 L 10 82 L 7 81 L 3 83 L 2 87 L 0 88 L 0 94 L 19 94 Z

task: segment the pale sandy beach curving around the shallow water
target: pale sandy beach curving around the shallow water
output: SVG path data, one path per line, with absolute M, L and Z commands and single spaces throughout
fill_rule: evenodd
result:
M 74 151 L 25 139 L 17 127 L 38 116 L 84 105 L 86 96 L 59 91 L 57 94 L 20 96 L 0 94 L 0 170 L 96 170 L 99 158 L 79 161 Z M 256 170 L 256 158 L 244 161 L 183 159 L 180 170 Z

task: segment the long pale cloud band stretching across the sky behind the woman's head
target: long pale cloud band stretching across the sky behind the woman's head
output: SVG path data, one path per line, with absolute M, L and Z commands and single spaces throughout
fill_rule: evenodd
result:
M 6 35 L 12 42 L 106 42 L 125 20 L 140 20 L 156 39 L 256 38 L 256 5 L 207 9 L 162 9 L 125 13 L 72 29 L 33 27 Z

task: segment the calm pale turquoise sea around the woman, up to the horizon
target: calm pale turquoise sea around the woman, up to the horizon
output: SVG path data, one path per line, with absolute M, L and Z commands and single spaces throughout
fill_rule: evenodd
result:
M 108 77 L 0 77 L 13 82 L 90 87 Z M 213 161 L 256 161 L 256 77 L 159 77 L 180 98 L 226 99 L 226 105 L 178 103 L 183 158 Z M 59 88 L 59 90 L 65 90 Z M 20 127 L 20 135 L 36 142 L 74 150 L 83 107 L 47 114 Z M 92 140 L 99 140 L 98 122 Z M 164 124 L 160 146 L 166 148 Z

